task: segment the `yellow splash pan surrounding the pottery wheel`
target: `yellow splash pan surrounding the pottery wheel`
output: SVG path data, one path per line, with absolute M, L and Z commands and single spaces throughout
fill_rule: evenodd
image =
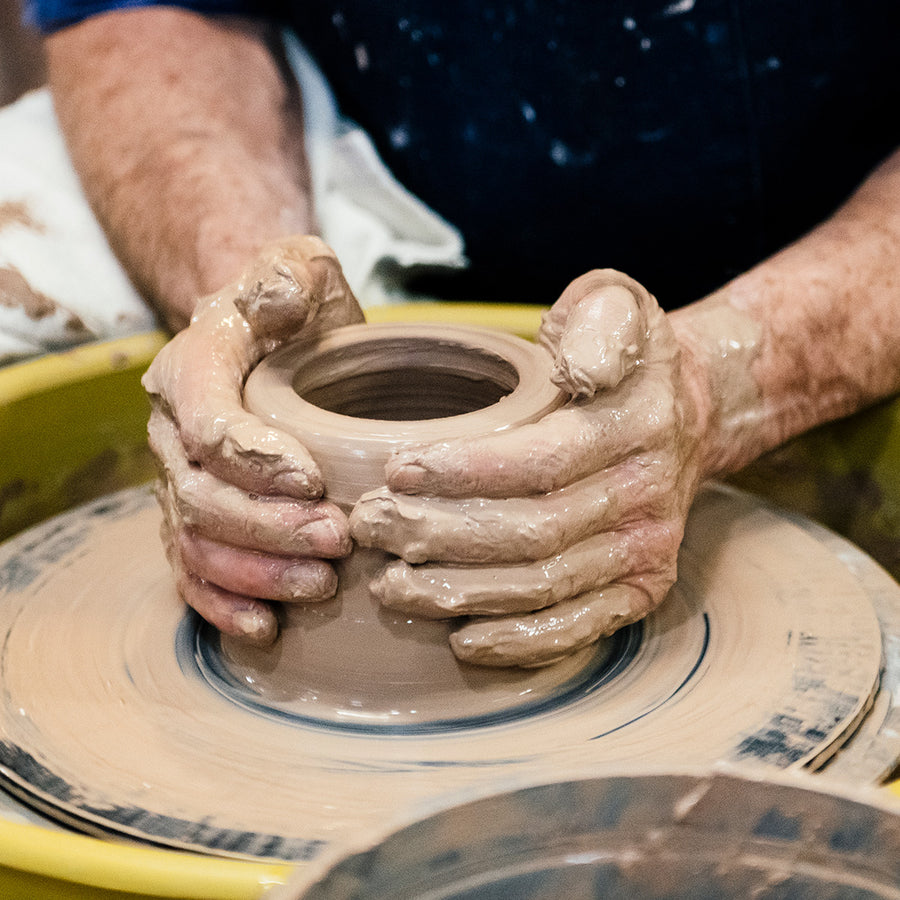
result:
M 444 321 L 533 337 L 541 310 L 407 304 L 373 322 Z M 149 332 L 0 369 L 0 539 L 78 503 L 148 480 L 140 377 L 165 343 Z M 829 426 L 742 473 L 740 483 L 825 521 L 900 574 L 900 402 Z M 864 499 L 848 519 L 833 498 Z M 857 492 L 859 493 L 859 492 Z M 896 564 L 896 565 L 895 565 Z M 900 788 L 891 790 L 900 797 Z M 256 900 L 293 867 L 103 841 L 0 817 L 4 900 Z

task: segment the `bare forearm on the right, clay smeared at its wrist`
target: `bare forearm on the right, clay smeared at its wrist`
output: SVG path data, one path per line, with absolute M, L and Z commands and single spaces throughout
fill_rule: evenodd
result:
M 816 230 L 670 318 L 705 395 L 709 475 L 900 390 L 900 153 Z

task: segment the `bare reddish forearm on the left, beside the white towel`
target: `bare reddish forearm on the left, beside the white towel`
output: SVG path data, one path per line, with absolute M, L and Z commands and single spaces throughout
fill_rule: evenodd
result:
M 299 97 L 271 40 L 242 20 L 155 7 L 47 41 L 91 205 L 174 328 L 264 244 L 314 230 Z

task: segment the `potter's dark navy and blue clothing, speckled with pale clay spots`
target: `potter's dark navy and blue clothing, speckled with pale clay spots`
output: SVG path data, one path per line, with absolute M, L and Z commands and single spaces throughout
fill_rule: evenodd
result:
M 30 9 L 52 29 L 116 5 Z M 427 284 L 445 295 L 550 302 L 613 266 L 671 308 L 802 235 L 900 145 L 896 0 L 265 8 L 462 231 L 471 270 Z

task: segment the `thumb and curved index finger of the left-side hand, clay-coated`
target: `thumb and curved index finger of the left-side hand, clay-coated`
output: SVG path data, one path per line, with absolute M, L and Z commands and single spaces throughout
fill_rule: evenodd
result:
M 319 497 L 315 461 L 294 438 L 249 415 L 241 392 L 280 341 L 362 320 L 333 251 L 315 237 L 290 238 L 264 250 L 236 285 L 201 300 L 143 383 L 177 422 L 192 462 L 246 491 Z

